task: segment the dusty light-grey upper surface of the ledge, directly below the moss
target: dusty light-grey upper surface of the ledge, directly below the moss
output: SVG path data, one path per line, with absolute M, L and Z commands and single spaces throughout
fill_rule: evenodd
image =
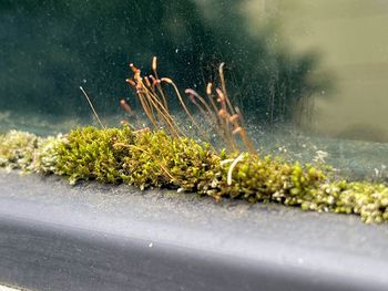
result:
M 193 194 L 82 183 L 0 172 L 0 216 L 140 236 L 170 243 L 309 271 L 375 278 L 388 284 L 388 225 L 357 216 L 304 212 L 279 205 L 215 202 Z M 264 251 L 265 250 L 265 251 Z

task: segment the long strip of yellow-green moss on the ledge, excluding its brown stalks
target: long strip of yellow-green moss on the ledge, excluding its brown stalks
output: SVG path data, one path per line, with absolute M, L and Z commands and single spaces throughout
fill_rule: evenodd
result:
M 388 187 L 384 184 L 336 180 L 312 165 L 258 154 L 226 154 L 164 131 L 83 127 L 47 138 L 12 131 L 0 135 L 0 166 L 63 175 L 71 184 L 96 179 L 141 189 L 166 187 L 215 199 L 357 214 L 365 222 L 388 221 Z

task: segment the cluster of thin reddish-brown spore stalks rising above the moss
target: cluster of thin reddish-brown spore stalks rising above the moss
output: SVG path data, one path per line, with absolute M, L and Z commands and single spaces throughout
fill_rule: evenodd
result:
M 224 65 L 225 64 L 222 63 L 218 67 L 221 89 L 215 90 L 216 94 L 213 95 L 212 93 L 212 83 L 208 83 L 206 86 L 206 95 L 208 101 L 203 98 L 197 92 L 192 89 L 187 89 L 185 93 L 188 94 L 190 100 L 198 108 L 198 111 L 206 118 L 208 118 L 210 124 L 216 126 L 216 133 L 224 139 L 228 150 L 238 150 L 236 139 L 237 135 L 239 135 L 247 150 L 251 154 L 255 154 L 255 148 L 246 135 L 243 115 L 238 107 L 232 106 L 231 100 L 226 93 Z M 134 73 L 134 81 L 130 79 L 127 80 L 127 83 L 130 83 L 136 90 L 136 94 L 142 103 L 145 114 L 156 128 L 157 121 L 160 121 L 164 123 L 173 136 L 177 137 L 181 133 L 183 134 L 181 128 L 175 124 L 173 116 L 169 112 L 167 101 L 161 85 L 162 82 L 165 82 L 169 85 L 173 86 L 175 95 L 178 98 L 183 111 L 192 124 L 197 128 L 198 133 L 202 136 L 206 136 L 196 123 L 194 116 L 188 111 L 175 83 L 170 77 L 160 79 L 157 76 L 156 56 L 154 56 L 152 61 L 152 70 L 154 72 L 154 75 L 150 75 L 149 77 L 145 76 L 142 79 L 140 70 L 136 69 L 133 64 L 130 64 L 130 66 Z M 214 98 L 217 100 L 218 104 L 216 104 Z M 126 111 L 130 112 L 129 110 Z M 155 114 L 157 115 L 157 118 Z

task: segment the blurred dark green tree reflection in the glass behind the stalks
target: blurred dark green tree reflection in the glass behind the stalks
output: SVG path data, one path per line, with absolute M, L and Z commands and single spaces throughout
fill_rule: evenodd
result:
M 146 71 L 157 55 L 161 73 L 200 91 L 226 62 L 229 92 L 246 114 L 287 122 L 325 85 L 309 76 L 317 58 L 273 49 L 269 25 L 249 35 L 238 2 L 204 11 L 193 0 L 2 0 L 0 106 L 83 113 L 84 85 L 100 112 L 113 113 L 129 94 L 126 63 Z

